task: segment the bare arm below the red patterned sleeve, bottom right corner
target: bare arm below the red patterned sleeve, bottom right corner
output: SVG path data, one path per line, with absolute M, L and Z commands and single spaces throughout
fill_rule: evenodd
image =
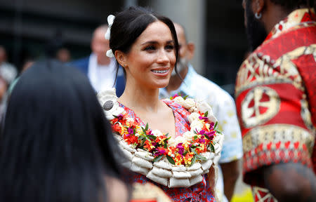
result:
M 299 163 L 280 163 L 263 168 L 265 187 L 279 202 L 316 201 L 316 177 Z

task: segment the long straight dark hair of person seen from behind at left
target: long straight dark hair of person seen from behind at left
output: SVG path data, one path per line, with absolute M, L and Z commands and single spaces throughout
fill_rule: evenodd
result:
M 60 62 L 37 62 L 8 102 L 0 138 L 0 201 L 106 201 L 119 178 L 110 124 L 88 79 Z

